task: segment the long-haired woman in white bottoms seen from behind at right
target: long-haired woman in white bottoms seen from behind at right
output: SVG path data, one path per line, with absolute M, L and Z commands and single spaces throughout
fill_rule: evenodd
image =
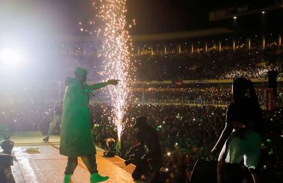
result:
M 257 183 L 256 166 L 260 158 L 262 112 L 251 80 L 234 80 L 232 95 L 233 101 L 226 112 L 226 125 L 211 150 L 211 154 L 214 154 L 222 147 L 217 164 L 217 182 L 243 182 L 243 162 Z

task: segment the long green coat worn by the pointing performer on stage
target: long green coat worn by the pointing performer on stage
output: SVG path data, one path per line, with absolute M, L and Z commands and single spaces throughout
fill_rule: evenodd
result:
M 90 96 L 76 80 L 68 83 L 63 100 L 60 154 L 70 157 L 96 154 L 90 130 Z

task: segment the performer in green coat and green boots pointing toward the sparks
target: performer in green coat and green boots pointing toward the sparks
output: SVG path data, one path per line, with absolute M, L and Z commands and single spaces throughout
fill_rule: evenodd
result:
M 90 109 L 88 107 L 92 90 L 109 84 L 116 85 L 118 80 L 88 85 L 87 71 L 77 67 L 75 77 L 66 80 L 66 91 L 63 99 L 60 154 L 68 156 L 64 182 L 70 182 L 77 167 L 77 157 L 90 171 L 90 182 L 103 182 L 109 177 L 98 174 L 96 167 L 96 149 L 90 130 Z

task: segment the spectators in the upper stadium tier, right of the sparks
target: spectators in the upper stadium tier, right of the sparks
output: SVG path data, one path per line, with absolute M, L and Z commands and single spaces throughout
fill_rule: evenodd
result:
M 137 80 L 201 80 L 282 75 L 282 48 L 208 51 L 180 55 L 142 55 L 133 61 Z M 154 69 L 152 69 L 154 68 Z

